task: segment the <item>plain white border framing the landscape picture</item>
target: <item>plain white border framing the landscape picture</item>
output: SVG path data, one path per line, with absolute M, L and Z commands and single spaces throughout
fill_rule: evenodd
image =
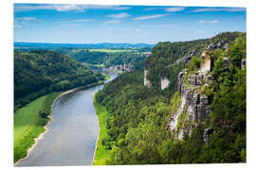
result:
M 1 3 L 1 169 L 12 169 L 12 101 L 13 101 L 13 25 L 12 3 L 41 3 L 41 4 L 96 4 L 96 5 L 155 5 L 155 6 L 196 6 L 196 7 L 246 7 L 247 8 L 247 163 L 246 164 L 187 164 L 187 165 L 143 165 L 143 166 L 63 166 L 44 167 L 45 169 L 130 169 L 130 168 L 164 168 L 164 169 L 244 169 L 255 165 L 255 0 L 14 0 Z M 21 167 L 19 167 L 21 168 Z M 38 167 L 24 167 L 21 169 L 38 169 Z

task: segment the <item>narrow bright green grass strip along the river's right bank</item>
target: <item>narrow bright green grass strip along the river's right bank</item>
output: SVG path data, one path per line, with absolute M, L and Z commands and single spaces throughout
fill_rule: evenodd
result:
M 107 110 L 100 103 L 96 101 L 94 98 L 94 106 L 97 111 L 97 115 L 100 121 L 100 137 L 97 144 L 97 150 L 94 158 L 93 165 L 105 165 L 106 160 L 109 156 L 110 150 L 106 149 L 104 145 L 102 145 L 101 141 L 107 137 L 107 128 L 106 128 L 106 116 Z

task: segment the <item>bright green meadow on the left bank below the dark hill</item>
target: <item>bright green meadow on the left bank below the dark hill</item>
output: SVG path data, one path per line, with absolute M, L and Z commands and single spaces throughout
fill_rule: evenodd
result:
M 14 162 L 26 157 L 27 149 L 34 144 L 34 138 L 45 131 L 48 118 L 39 116 L 40 110 L 49 115 L 54 99 L 60 93 L 48 93 L 14 113 Z

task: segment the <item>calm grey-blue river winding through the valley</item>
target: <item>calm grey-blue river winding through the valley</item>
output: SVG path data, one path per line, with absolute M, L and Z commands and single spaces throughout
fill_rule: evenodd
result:
M 111 79 L 117 75 L 111 75 Z M 53 121 L 44 138 L 17 166 L 91 165 L 99 136 L 93 93 L 103 85 L 62 96 L 53 108 Z

